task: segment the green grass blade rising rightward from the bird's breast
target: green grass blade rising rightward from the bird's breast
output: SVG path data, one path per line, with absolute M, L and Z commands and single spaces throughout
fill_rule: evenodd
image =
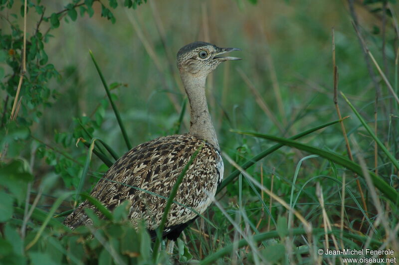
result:
M 344 118 L 344 119 L 345 119 L 345 118 Z M 343 120 L 344 120 L 344 119 L 343 119 Z M 317 126 L 317 127 L 312 128 L 312 129 L 310 129 L 310 130 L 307 130 L 307 131 L 305 131 L 305 132 L 303 132 L 303 133 L 298 133 L 298 134 L 296 134 L 296 135 L 290 137 L 289 139 L 291 139 L 291 140 L 298 139 L 298 138 L 303 137 L 303 136 L 306 136 L 306 135 L 308 135 L 308 134 L 310 134 L 310 133 L 316 132 L 316 131 L 318 131 L 318 130 L 320 130 L 320 129 L 323 129 L 323 128 L 329 127 L 329 126 L 331 126 L 331 125 L 337 124 L 337 123 L 339 123 L 339 122 L 341 122 L 341 121 L 342 121 L 342 120 L 337 120 L 337 121 L 334 121 L 334 122 L 331 122 L 331 123 L 327 123 L 327 124 L 323 124 L 323 125 Z M 234 132 L 234 131 L 233 131 L 233 132 Z M 263 152 L 260 152 L 259 154 L 255 155 L 254 157 L 252 157 L 251 159 L 249 159 L 248 161 L 246 161 L 243 165 L 241 165 L 242 169 L 245 170 L 245 169 L 247 169 L 248 167 L 254 165 L 257 161 L 259 161 L 259 160 L 262 159 L 263 157 L 267 156 L 268 154 L 270 154 L 270 153 L 272 153 L 272 152 L 278 150 L 278 149 L 279 149 L 280 147 L 282 147 L 282 146 L 284 146 L 284 144 L 277 143 L 277 144 L 273 145 L 272 147 L 270 147 L 270 148 L 264 150 Z M 217 188 L 216 194 L 217 194 L 219 191 L 221 191 L 225 186 L 227 186 L 230 182 L 234 181 L 234 179 L 235 179 L 239 174 L 240 174 L 240 171 L 236 169 L 236 170 L 234 170 L 230 175 L 228 175 L 228 177 L 226 177 L 226 178 L 222 181 L 222 183 L 220 183 L 220 186 Z

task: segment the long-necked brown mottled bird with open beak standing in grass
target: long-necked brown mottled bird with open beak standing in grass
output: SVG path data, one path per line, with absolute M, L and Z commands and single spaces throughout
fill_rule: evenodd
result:
M 205 81 L 220 63 L 240 60 L 221 56 L 238 50 L 203 41 L 182 47 L 177 54 L 177 67 L 190 104 L 189 132 L 159 137 L 132 148 L 108 169 L 91 191 L 91 196 L 111 211 L 128 200 L 130 221 L 137 227 L 144 220 L 154 239 L 167 204 L 165 198 L 198 150 L 174 198 L 178 204 L 171 205 L 162 232 L 163 239 L 172 242 L 168 253 L 173 252 L 174 242 L 182 231 L 211 204 L 223 179 L 223 160 L 208 111 Z M 85 208 L 101 217 L 96 207 L 86 200 L 65 218 L 64 224 L 70 229 L 92 224 Z

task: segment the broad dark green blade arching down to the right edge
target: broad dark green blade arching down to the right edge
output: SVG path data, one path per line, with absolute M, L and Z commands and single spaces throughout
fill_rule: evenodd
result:
M 238 132 L 238 131 L 234 131 L 234 132 L 276 141 L 281 144 L 295 147 L 297 149 L 307 151 L 312 154 L 318 154 L 321 157 L 324 157 L 324 158 L 329 159 L 339 165 L 342 165 L 342 166 L 352 170 L 353 172 L 358 173 L 358 175 L 364 177 L 362 167 L 359 164 L 356 164 L 356 163 L 352 162 L 351 160 L 349 160 L 348 158 L 346 158 L 342 155 L 336 154 L 334 152 L 323 150 L 323 149 L 320 149 L 317 147 L 313 147 L 311 145 L 299 143 L 299 142 L 296 142 L 296 141 L 293 141 L 290 139 L 276 137 L 273 135 L 261 134 L 261 133 L 251 133 L 251 132 Z M 398 203 L 399 202 L 399 193 L 393 187 L 391 187 L 387 182 L 385 182 L 383 179 L 378 177 L 376 174 L 374 174 L 370 170 L 368 170 L 368 172 L 370 174 L 370 177 L 373 180 L 374 185 L 383 194 L 385 194 L 392 202 Z

